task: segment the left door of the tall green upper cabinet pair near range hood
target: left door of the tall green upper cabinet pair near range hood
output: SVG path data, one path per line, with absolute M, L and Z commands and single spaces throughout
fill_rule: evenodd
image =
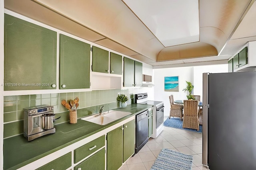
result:
M 124 87 L 134 86 L 134 60 L 124 57 Z

